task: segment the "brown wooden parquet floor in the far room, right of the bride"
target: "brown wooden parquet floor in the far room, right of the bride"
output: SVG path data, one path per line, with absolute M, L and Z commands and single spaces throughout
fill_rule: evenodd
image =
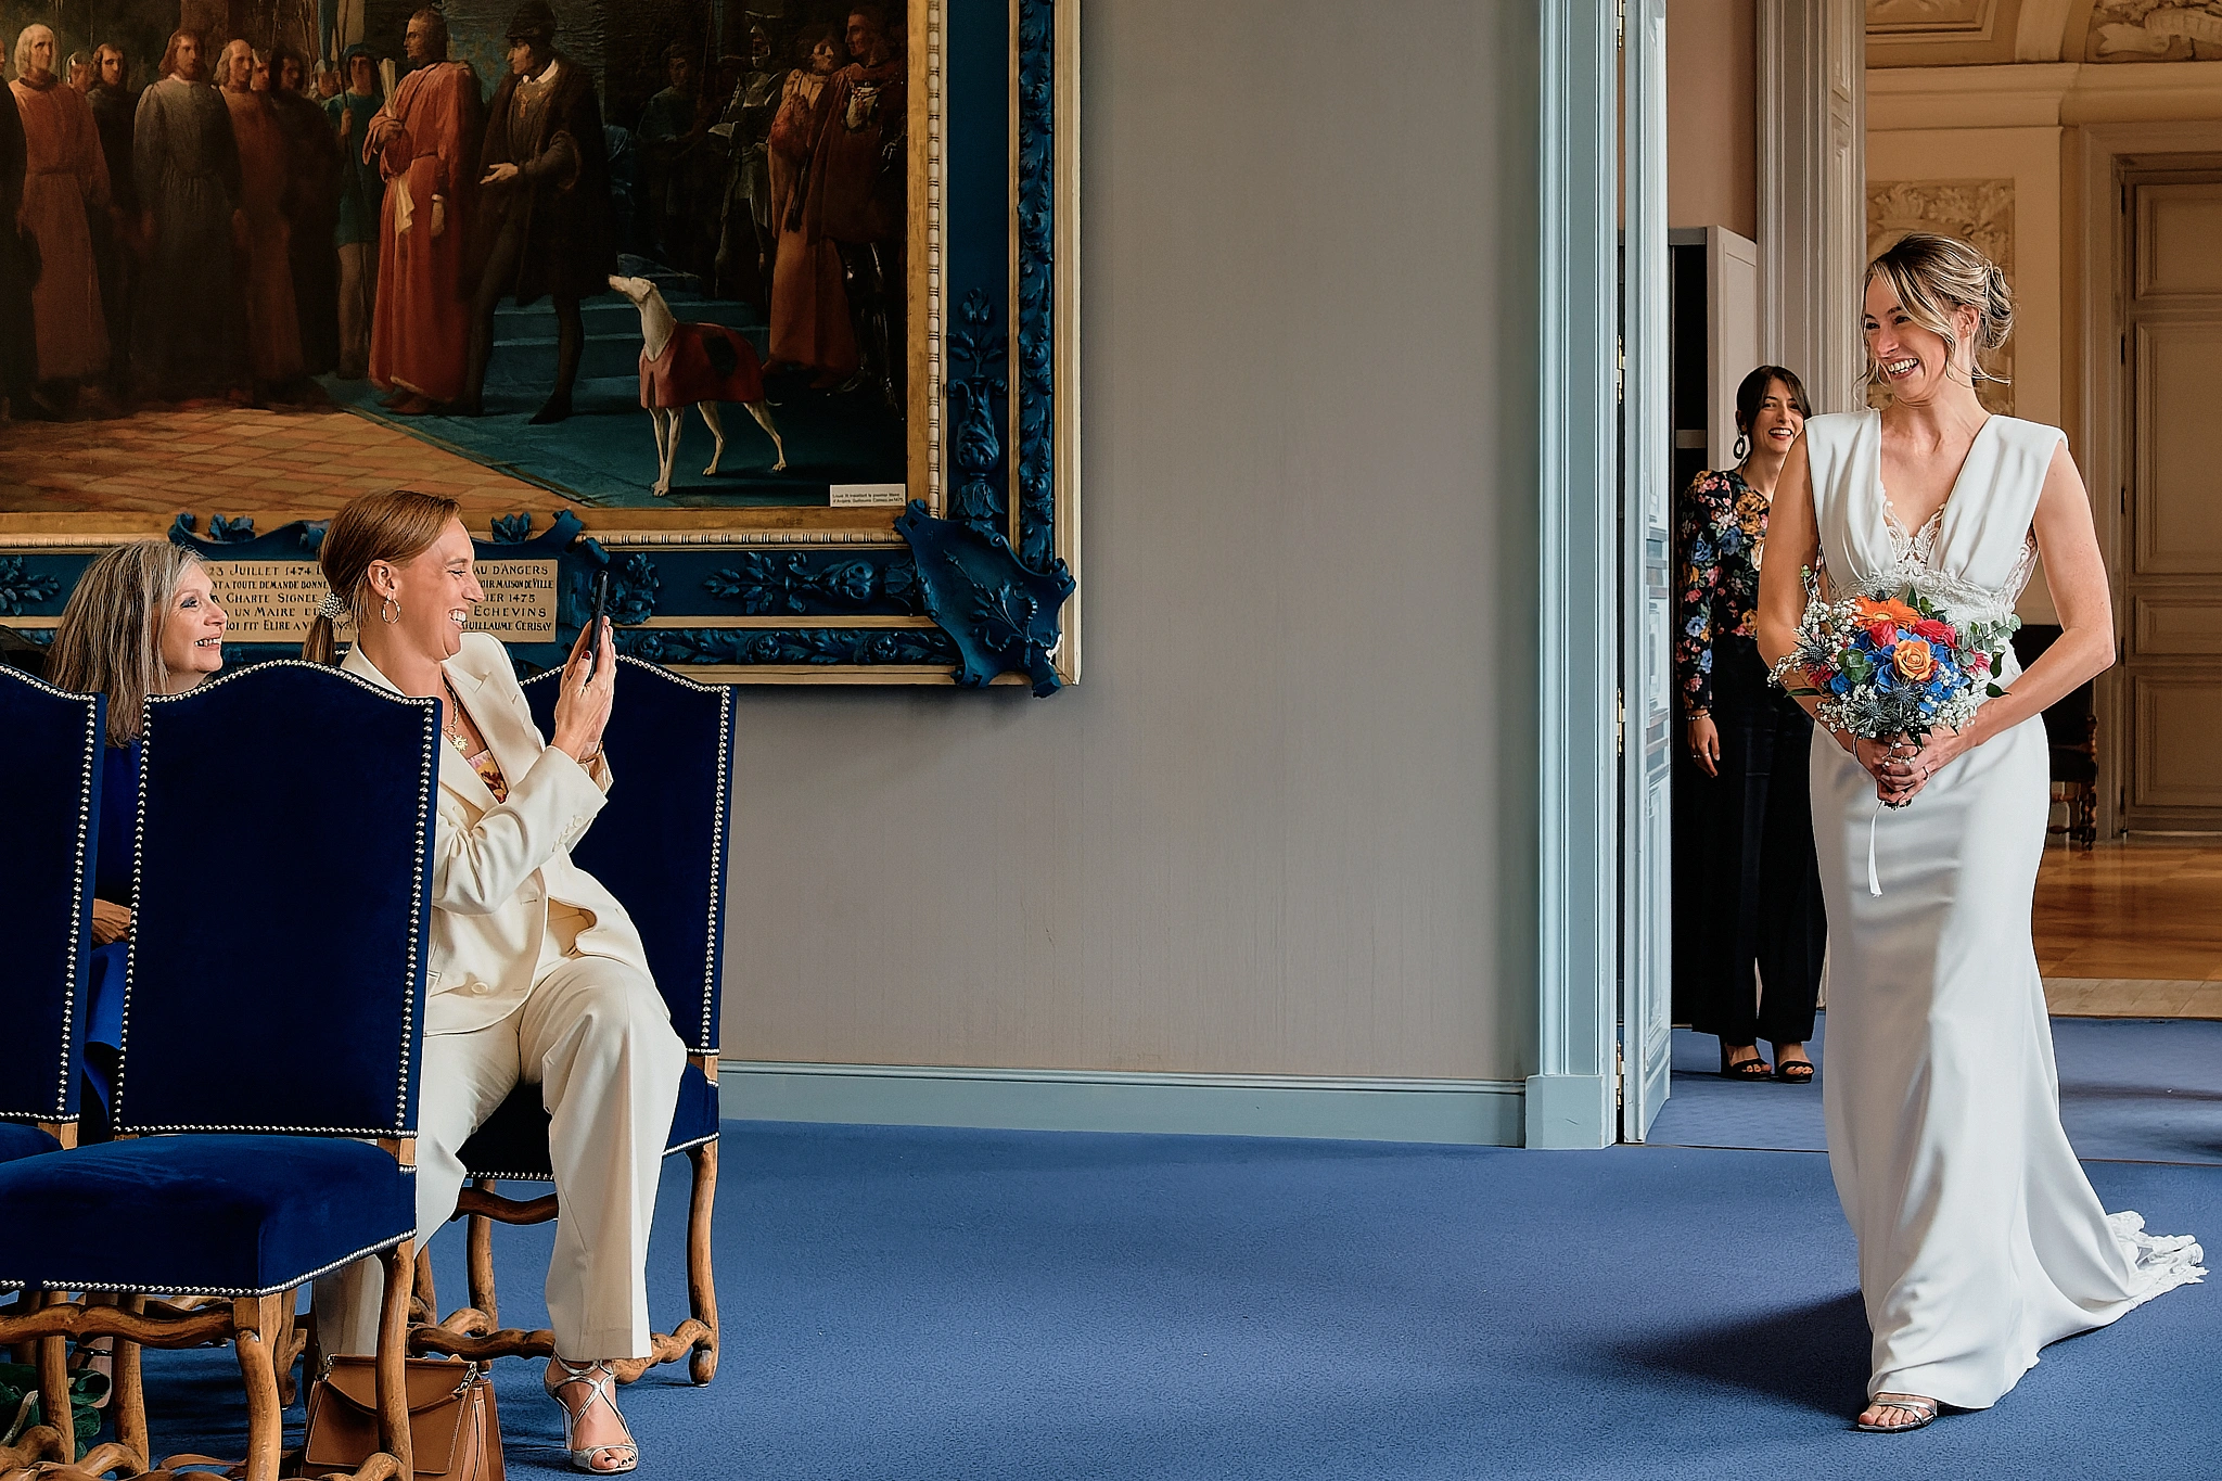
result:
M 2222 1019 L 2222 848 L 2046 848 L 2033 926 L 2053 1012 Z

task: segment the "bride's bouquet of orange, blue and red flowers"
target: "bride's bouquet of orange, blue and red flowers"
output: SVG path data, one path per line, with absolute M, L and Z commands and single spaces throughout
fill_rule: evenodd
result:
M 1964 726 L 1984 699 L 2006 693 L 1993 677 L 2018 626 L 2022 619 L 2011 615 L 1953 622 L 1913 588 L 1842 602 L 1815 595 L 1798 619 L 1798 646 L 1771 677 L 1791 695 L 1818 695 L 1820 719 L 1838 731 L 1920 744 L 1938 726 Z

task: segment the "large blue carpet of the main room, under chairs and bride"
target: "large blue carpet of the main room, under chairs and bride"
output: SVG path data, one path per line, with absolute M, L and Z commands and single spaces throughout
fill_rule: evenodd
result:
M 2222 1241 L 2222 1172 L 2093 1179 Z M 507 1321 L 540 1321 L 549 1239 L 496 1230 Z M 1984 1414 L 1851 1432 L 1866 1328 L 1820 1157 L 729 1121 L 718 1252 L 718 1381 L 624 1390 L 642 1477 L 2218 1474 L 2206 1286 Z M 453 1226 L 436 1255 L 453 1301 Z M 538 1363 L 496 1377 L 509 1465 L 549 1474 Z M 149 1397 L 158 1452 L 238 1452 L 224 1352 L 149 1354 Z

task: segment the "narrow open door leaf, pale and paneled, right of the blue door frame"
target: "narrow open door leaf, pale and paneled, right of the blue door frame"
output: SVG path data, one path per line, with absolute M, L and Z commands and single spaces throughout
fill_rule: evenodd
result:
M 1666 0 L 1624 0 L 1620 255 L 1620 1137 L 1642 1141 L 1673 1064 L 1673 429 L 1666 413 Z

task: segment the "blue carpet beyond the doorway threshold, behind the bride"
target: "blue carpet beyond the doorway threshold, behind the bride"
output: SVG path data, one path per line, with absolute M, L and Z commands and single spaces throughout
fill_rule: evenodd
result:
M 1651 1141 L 1826 1150 L 1820 1117 L 1826 1019 L 1820 1015 L 1809 1046 L 1818 1064 L 1811 1086 L 1722 1079 L 1720 1041 L 1673 1030 L 1673 1090 L 1651 1124 Z M 2053 1019 L 2053 1057 L 2060 1124 L 2078 1157 L 2222 1166 L 2222 1021 Z

